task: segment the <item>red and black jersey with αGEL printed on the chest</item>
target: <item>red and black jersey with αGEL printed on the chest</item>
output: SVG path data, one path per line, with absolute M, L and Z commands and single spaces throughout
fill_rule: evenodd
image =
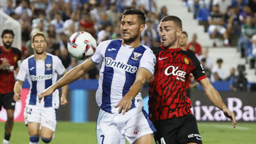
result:
M 152 121 L 190 115 L 191 101 L 186 96 L 189 74 L 196 81 L 206 78 L 195 53 L 182 49 L 153 48 L 156 54 L 154 81 L 149 88 L 149 116 Z

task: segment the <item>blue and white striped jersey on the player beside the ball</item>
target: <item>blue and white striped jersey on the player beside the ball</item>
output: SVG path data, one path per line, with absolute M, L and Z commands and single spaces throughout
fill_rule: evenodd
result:
M 107 40 L 100 43 L 92 61 L 102 63 L 99 88 L 96 93 L 98 106 L 109 113 L 116 113 L 119 100 L 129 91 L 139 68 L 154 74 L 156 57 L 145 45 L 133 48 L 123 45 L 122 40 Z M 132 100 L 132 107 L 143 106 L 141 93 Z

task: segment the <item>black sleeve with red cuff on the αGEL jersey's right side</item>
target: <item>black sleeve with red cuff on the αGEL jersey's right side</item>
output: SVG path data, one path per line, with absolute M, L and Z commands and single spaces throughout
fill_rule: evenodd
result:
M 193 63 L 195 65 L 195 69 L 192 71 L 192 74 L 195 77 L 195 80 L 200 81 L 201 79 L 205 79 L 206 76 L 205 76 L 204 68 L 195 55 L 193 56 Z

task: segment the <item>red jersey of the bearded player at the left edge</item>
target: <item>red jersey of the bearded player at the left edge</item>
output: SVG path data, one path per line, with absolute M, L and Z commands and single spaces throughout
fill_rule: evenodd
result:
M 10 51 L 6 51 L 0 46 L 0 64 L 5 59 L 9 60 L 11 70 L 0 69 L 0 94 L 13 92 L 15 84 L 13 70 L 17 68 L 17 61 L 21 60 L 20 50 L 12 47 Z

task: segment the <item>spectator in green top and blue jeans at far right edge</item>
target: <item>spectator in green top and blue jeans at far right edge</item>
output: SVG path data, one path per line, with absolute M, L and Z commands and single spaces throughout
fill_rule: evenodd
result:
M 241 26 L 241 36 L 237 42 L 237 47 L 241 51 L 241 58 L 247 57 L 250 54 L 252 45 L 252 36 L 255 35 L 256 28 L 252 17 L 246 17 L 246 23 Z

